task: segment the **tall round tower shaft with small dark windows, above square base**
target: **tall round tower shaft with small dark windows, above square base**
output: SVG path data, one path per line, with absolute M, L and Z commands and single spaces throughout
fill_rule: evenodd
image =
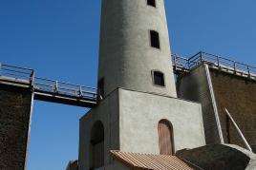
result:
M 177 97 L 164 0 L 102 0 L 98 88 Z

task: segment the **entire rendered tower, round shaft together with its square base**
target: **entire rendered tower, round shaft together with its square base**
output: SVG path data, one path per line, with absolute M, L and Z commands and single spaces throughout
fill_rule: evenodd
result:
M 115 169 L 110 150 L 205 144 L 201 104 L 176 98 L 164 0 L 102 1 L 100 29 L 100 102 L 80 119 L 79 169 Z

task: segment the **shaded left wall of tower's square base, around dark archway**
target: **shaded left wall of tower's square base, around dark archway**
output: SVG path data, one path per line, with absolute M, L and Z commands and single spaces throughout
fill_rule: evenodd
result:
M 118 93 L 113 91 L 100 104 L 80 119 L 79 170 L 90 168 L 91 129 L 100 121 L 104 126 L 104 162 L 111 164 L 110 150 L 119 150 Z

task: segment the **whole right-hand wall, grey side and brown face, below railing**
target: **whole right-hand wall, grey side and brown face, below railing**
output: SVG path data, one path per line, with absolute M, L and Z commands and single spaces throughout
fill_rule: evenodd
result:
M 238 131 L 224 112 L 224 107 L 226 107 L 241 128 L 245 139 L 255 150 L 256 81 L 216 68 L 210 68 L 210 74 L 224 134 L 224 142 L 245 147 Z M 213 104 L 204 67 L 199 66 L 191 70 L 190 73 L 178 77 L 177 87 L 180 98 L 202 104 L 206 143 L 219 143 Z

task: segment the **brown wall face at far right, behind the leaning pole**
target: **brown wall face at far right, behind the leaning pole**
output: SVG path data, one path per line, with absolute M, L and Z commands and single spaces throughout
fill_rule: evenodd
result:
M 256 81 L 211 69 L 212 84 L 225 142 L 245 147 L 234 125 L 227 119 L 228 109 L 250 145 L 256 144 Z

